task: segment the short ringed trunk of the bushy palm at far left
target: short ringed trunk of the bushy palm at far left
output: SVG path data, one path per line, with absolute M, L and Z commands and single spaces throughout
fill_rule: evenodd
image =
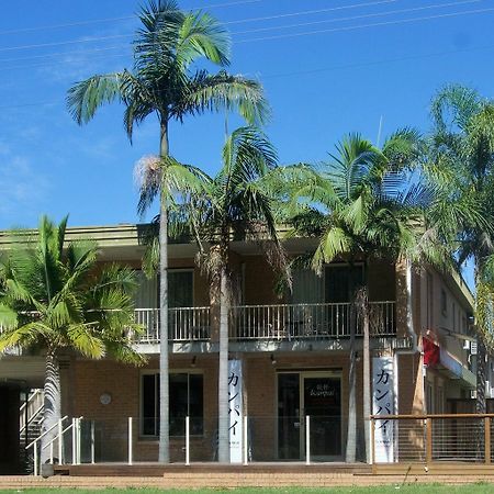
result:
M 52 427 L 53 428 L 41 440 L 42 464 L 49 461 L 48 444 L 57 436 L 58 428 L 56 427 L 56 424 L 61 418 L 60 370 L 54 350 L 47 350 L 45 367 L 45 397 L 42 434 L 49 430 Z M 56 445 L 54 445 L 54 449 L 56 450 Z

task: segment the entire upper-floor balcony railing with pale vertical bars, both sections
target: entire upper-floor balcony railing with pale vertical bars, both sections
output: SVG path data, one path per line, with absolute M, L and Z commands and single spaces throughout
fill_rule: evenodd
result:
M 137 341 L 159 343 L 159 310 L 137 308 L 136 323 L 145 328 Z M 372 336 L 394 336 L 395 302 L 370 303 Z M 350 304 L 240 305 L 232 307 L 229 337 L 236 340 L 337 339 L 350 336 Z M 169 310 L 170 341 L 200 341 L 211 337 L 210 307 Z M 361 335 L 361 324 L 357 328 Z

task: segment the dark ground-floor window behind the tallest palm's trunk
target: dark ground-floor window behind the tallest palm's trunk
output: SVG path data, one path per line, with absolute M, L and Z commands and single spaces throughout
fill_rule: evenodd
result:
M 141 416 L 143 436 L 159 435 L 159 373 L 146 373 L 141 381 Z M 203 375 L 178 372 L 169 377 L 170 436 L 184 436 L 186 417 L 190 434 L 203 434 Z

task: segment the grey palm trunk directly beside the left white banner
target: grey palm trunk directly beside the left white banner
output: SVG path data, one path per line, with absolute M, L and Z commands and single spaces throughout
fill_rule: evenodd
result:
M 217 374 L 218 453 L 220 463 L 229 462 L 228 414 L 228 281 L 226 266 L 222 267 L 220 289 L 220 362 Z

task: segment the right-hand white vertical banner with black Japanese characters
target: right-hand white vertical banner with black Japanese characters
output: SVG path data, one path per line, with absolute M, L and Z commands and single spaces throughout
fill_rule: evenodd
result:
M 382 416 L 374 422 L 374 462 L 394 461 L 393 420 L 386 415 L 394 414 L 394 366 L 393 357 L 372 359 L 372 414 Z

